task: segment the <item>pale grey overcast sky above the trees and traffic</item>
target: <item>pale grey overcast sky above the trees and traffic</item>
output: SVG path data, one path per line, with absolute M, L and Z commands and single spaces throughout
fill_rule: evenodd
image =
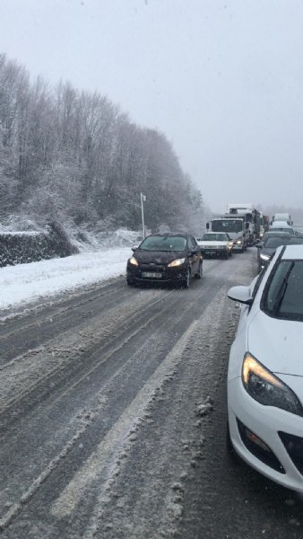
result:
M 212 210 L 303 208 L 301 0 L 0 0 L 0 52 L 163 131 Z

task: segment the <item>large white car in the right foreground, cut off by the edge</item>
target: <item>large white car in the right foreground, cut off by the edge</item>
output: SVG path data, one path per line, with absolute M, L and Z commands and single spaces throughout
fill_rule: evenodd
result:
M 247 464 L 303 493 L 303 245 L 278 247 L 241 305 L 228 372 L 229 441 Z

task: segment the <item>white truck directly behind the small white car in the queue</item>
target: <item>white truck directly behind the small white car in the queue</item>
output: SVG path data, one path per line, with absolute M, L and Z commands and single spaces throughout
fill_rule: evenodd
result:
M 233 251 L 243 252 L 247 249 L 248 223 L 245 216 L 229 214 L 214 215 L 206 223 L 206 228 L 212 232 L 226 232 L 232 239 Z

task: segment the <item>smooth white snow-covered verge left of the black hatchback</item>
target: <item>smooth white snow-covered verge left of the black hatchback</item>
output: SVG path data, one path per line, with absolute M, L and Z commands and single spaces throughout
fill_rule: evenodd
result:
M 0 268 L 0 309 L 126 274 L 129 247 Z

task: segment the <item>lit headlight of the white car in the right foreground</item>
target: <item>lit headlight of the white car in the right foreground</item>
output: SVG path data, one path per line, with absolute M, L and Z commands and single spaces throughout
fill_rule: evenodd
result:
M 303 416 L 297 395 L 248 352 L 243 360 L 242 382 L 255 401 Z

